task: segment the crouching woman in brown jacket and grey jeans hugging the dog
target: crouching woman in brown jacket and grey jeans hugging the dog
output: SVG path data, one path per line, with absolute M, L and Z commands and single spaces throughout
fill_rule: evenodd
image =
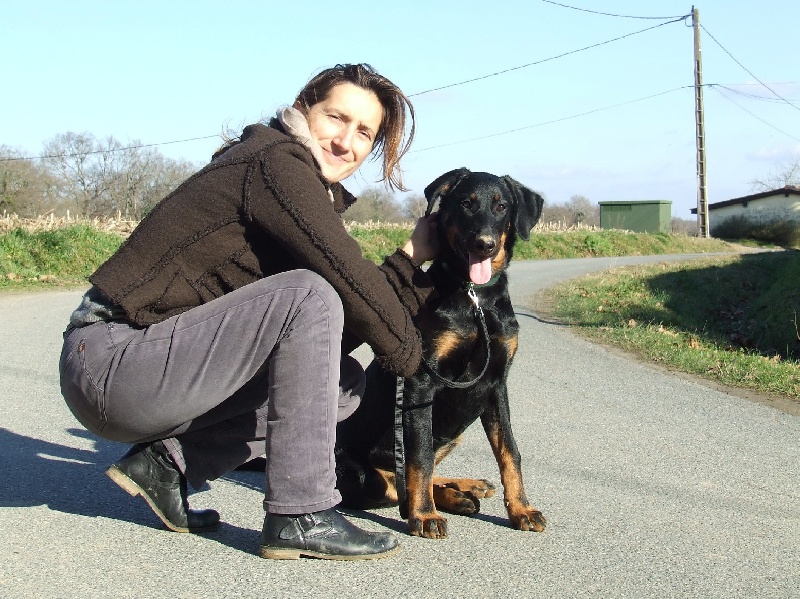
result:
M 419 365 L 411 317 L 432 290 L 420 266 L 436 254 L 435 224 L 420 219 L 375 266 L 344 229 L 355 199 L 340 181 L 375 153 L 402 189 L 413 118 L 369 65 L 327 69 L 219 150 L 89 278 L 64 335 L 62 393 L 89 430 L 136 443 L 107 474 L 172 530 L 219 523 L 189 509 L 187 480 L 197 488 L 266 452 L 263 557 L 396 549 L 336 511 L 335 430 L 363 391 L 355 347 L 398 375 Z

